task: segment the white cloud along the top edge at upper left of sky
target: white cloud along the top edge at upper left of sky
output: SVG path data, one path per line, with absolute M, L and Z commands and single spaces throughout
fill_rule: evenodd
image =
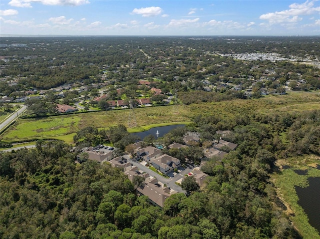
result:
M 90 2 L 88 0 L 11 0 L 8 4 L 16 7 L 32 7 L 31 3 L 41 3 L 44 5 L 78 6 Z

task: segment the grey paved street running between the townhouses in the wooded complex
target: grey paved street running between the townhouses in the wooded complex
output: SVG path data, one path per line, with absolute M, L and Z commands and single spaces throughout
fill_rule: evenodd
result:
M 166 184 L 167 187 L 171 188 L 172 190 L 178 192 L 178 193 L 185 193 L 184 190 L 181 189 L 181 187 L 179 187 L 178 185 L 175 184 L 176 181 L 178 181 L 179 179 L 183 178 L 183 173 L 185 173 L 184 171 L 181 172 L 181 174 L 175 174 L 173 177 L 171 178 L 164 178 L 161 175 L 155 173 L 154 171 L 148 169 L 147 167 L 145 167 L 144 165 L 140 164 L 140 162 L 137 162 L 135 160 L 132 160 L 129 158 L 128 155 L 124 155 L 123 156 L 125 159 L 128 160 L 128 162 L 130 162 L 132 165 L 136 166 L 138 169 L 140 169 L 141 171 L 148 173 L 150 176 L 155 177 L 158 181 L 160 181 L 162 184 Z M 191 171 L 191 169 L 186 169 L 187 171 Z

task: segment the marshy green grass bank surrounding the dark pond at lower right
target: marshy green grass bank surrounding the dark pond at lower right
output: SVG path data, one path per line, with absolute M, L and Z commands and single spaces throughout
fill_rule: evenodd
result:
M 303 158 L 287 159 L 285 164 L 291 166 L 289 169 L 282 169 L 271 175 L 278 197 L 287 207 L 285 211 L 290 217 L 294 227 L 301 234 L 303 239 L 320 239 L 317 231 L 308 223 L 308 218 L 303 209 L 298 205 L 298 196 L 295 186 L 307 187 L 309 177 L 320 177 L 320 170 L 316 169 L 316 164 L 320 163 L 320 157 L 305 156 Z M 277 162 L 277 165 L 284 162 Z M 294 170 L 308 170 L 307 175 L 298 175 Z

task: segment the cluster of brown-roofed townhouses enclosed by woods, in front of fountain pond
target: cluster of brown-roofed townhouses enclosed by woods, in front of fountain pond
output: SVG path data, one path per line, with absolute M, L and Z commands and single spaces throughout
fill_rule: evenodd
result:
M 223 159 L 228 153 L 218 150 L 221 147 L 230 151 L 237 147 L 236 144 L 222 140 L 222 137 L 229 135 L 231 131 L 217 131 L 216 133 L 221 135 L 221 139 L 212 142 L 210 148 L 203 148 L 204 157 L 200 165 L 205 164 L 211 158 Z M 183 137 L 186 142 L 196 141 L 199 138 L 200 135 L 197 132 L 187 132 Z M 185 192 L 179 186 L 185 177 L 193 177 L 199 187 L 205 185 L 207 175 L 200 170 L 200 165 L 182 166 L 179 159 L 164 154 L 161 149 L 153 146 L 142 147 L 142 145 L 141 141 L 136 142 L 132 144 L 133 154 L 117 157 L 113 157 L 113 150 L 109 150 L 110 147 L 107 146 L 84 148 L 82 153 L 77 155 L 77 161 L 82 160 L 83 162 L 83 155 L 85 155 L 85 160 L 109 163 L 113 168 L 122 170 L 132 183 L 136 176 L 142 177 L 143 184 L 136 186 L 138 194 L 147 196 L 152 204 L 161 208 L 164 201 L 172 194 Z M 168 148 L 180 149 L 188 148 L 188 146 L 174 142 Z

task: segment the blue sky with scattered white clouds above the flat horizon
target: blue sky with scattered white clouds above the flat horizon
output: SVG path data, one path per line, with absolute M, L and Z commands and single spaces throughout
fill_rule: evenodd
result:
M 1 35 L 320 35 L 320 0 L 1 0 Z

